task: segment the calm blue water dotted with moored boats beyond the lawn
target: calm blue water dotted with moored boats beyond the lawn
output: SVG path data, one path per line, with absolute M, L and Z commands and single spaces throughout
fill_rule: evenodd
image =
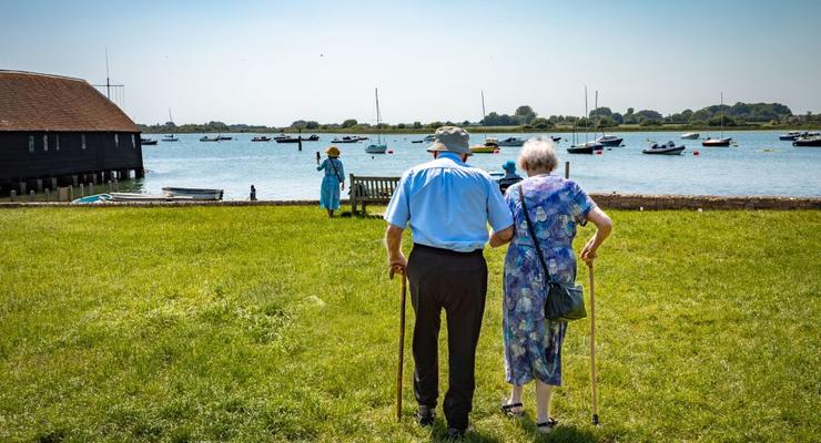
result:
M 779 132 L 724 134 L 733 137 L 738 147 L 706 148 L 699 141 L 679 140 L 680 133 L 617 133 L 625 137 L 624 147 L 614 147 L 602 155 L 570 155 L 565 151 L 570 142 L 562 141 L 559 155 L 562 162 L 570 162 L 570 177 L 588 192 L 821 196 L 820 147 L 793 147 L 790 142 L 778 140 Z M 315 153 L 324 152 L 335 134 L 320 134 L 320 142 L 303 142 L 302 152 L 296 144 L 252 143 L 255 134 L 224 135 L 234 140 L 203 143 L 199 141 L 201 134 L 183 134 L 175 143 L 161 141 L 156 146 L 143 146 L 149 173 L 138 186 L 150 194 L 159 194 L 163 186 L 216 187 L 225 189 L 227 199 L 247 199 L 253 184 L 260 199 L 318 199 L 322 176 L 316 172 Z M 509 135 L 539 134 L 488 134 L 499 140 Z M 346 181 L 351 173 L 399 176 L 409 166 L 428 161 L 428 144 L 411 143 L 422 137 L 391 134 L 388 150 L 394 154 L 376 156 L 365 153 L 369 142 L 338 145 Z M 472 144 L 480 144 L 484 137 L 473 135 Z M 581 137 L 584 141 L 584 134 Z M 641 154 L 648 138 L 660 143 L 673 140 L 683 143 L 687 151 L 681 156 Z M 515 159 L 519 150 L 501 147 L 500 154 L 474 155 L 468 163 L 500 171 L 500 165 Z M 693 155 L 693 151 L 700 155 Z M 560 167 L 559 173 L 562 171 Z

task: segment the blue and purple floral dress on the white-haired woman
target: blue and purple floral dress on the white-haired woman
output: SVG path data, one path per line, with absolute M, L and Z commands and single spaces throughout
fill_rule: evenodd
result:
M 515 385 L 534 378 L 560 385 L 567 322 L 545 319 L 547 279 L 521 212 L 521 189 L 550 276 L 564 284 L 576 279 L 576 225 L 585 225 L 596 204 L 575 182 L 548 174 L 526 178 L 510 186 L 505 195 L 516 227 L 505 258 L 505 377 Z

